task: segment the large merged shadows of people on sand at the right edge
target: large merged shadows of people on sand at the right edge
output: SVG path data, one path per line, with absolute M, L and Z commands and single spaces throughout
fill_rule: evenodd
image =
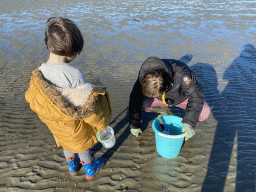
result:
M 198 63 L 191 69 L 218 121 L 202 192 L 224 191 L 232 177 L 236 191 L 255 191 L 256 49 L 245 45 L 226 69 L 223 79 L 228 85 L 222 93 L 213 66 Z

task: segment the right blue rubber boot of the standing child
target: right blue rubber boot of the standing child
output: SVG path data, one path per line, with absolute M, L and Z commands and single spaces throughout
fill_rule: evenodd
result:
M 92 160 L 89 162 L 80 163 L 83 165 L 86 172 L 86 179 L 90 180 L 103 168 L 105 161 L 102 157 L 98 157 L 96 160 L 93 157 Z

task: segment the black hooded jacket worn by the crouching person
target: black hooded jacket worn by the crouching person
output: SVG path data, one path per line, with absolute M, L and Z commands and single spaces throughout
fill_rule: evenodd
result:
M 204 94 L 199 87 L 198 80 L 185 63 L 157 57 L 149 57 L 141 66 L 138 79 L 130 95 L 130 124 L 135 128 L 141 127 L 141 108 L 144 97 L 141 91 L 141 79 L 147 71 L 152 69 L 164 69 L 170 74 L 173 80 L 170 82 L 172 87 L 165 93 L 165 101 L 167 104 L 175 106 L 188 99 L 182 122 L 195 127 L 204 104 Z M 162 95 L 158 99 L 162 100 Z

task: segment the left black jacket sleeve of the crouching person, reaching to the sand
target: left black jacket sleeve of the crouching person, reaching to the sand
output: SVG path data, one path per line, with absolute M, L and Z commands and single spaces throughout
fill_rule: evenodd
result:
M 129 102 L 129 124 L 135 128 L 141 127 L 141 108 L 144 95 L 139 79 L 135 82 Z

